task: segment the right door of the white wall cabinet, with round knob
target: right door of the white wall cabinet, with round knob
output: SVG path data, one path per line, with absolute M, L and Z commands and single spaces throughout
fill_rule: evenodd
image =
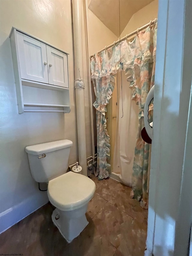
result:
M 68 88 L 67 54 L 49 45 L 46 45 L 46 49 L 49 84 Z

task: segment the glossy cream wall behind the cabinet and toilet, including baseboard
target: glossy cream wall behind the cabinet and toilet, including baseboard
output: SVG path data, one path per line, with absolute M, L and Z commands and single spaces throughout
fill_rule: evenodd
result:
M 25 147 L 52 140 L 73 141 L 69 164 L 78 160 L 70 0 L 0 1 L 0 232 L 48 201 L 32 179 Z M 69 53 L 69 114 L 18 114 L 13 63 L 8 37 L 15 26 Z M 85 45 L 83 46 L 85 48 Z M 84 56 L 87 156 L 91 155 L 91 128 Z

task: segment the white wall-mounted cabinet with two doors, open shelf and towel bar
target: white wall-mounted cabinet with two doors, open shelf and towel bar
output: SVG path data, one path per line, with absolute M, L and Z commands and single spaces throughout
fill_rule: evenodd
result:
M 68 53 L 16 28 L 9 37 L 19 114 L 69 113 Z

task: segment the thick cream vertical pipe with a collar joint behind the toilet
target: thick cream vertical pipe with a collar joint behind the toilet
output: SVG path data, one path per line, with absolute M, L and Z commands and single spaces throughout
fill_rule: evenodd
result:
M 81 165 L 82 167 L 82 174 L 87 176 L 85 100 L 84 100 L 85 86 L 84 86 L 84 80 L 83 80 L 81 1 L 82 0 L 72 0 L 74 61 L 75 61 L 75 84 L 74 85 L 75 85 L 75 95 L 76 95 L 79 165 Z

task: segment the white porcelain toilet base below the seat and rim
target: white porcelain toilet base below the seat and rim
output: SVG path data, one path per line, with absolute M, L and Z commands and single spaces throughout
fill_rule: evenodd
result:
M 57 208 L 53 211 L 52 221 L 68 243 L 79 236 L 88 225 L 85 216 L 87 206 L 88 203 L 72 211 L 61 211 Z

